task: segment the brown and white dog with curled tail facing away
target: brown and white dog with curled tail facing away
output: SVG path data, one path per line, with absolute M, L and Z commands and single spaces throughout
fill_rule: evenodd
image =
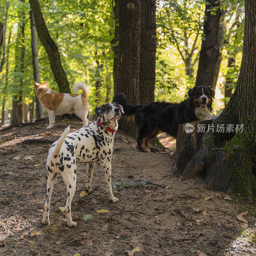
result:
M 35 86 L 36 96 L 39 98 L 44 109 L 49 117 L 49 126 L 46 129 L 51 129 L 55 124 L 55 115 L 75 113 L 84 122 L 84 126 L 88 125 L 89 120 L 87 115 L 89 112 L 89 104 L 87 96 L 90 89 L 84 83 L 75 84 L 73 87 L 74 93 L 54 92 L 49 87 L 47 82 L 38 84 L 33 81 Z M 78 90 L 83 90 L 82 94 L 76 94 Z

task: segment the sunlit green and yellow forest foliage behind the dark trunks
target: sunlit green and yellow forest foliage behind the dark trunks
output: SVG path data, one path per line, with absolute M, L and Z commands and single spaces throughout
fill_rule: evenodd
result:
M 90 114 L 111 102 L 114 95 L 113 65 L 115 2 L 40 1 L 48 31 L 57 44 L 70 89 L 78 82 L 90 86 Z M 0 2 L 1 33 L 0 104 L 1 118 L 12 119 L 18 102 L 22 121 L 35 114 L 32 81 L 30 4 L 25 0 Z M 220 7 L 219 64 L 216 65 L 214 114 L 220 114 L 235 89 L 242 59 L 244 1 L 225 1 Z M 205 1 L 156 1 L 156 82 L 155 100 L 180 102 L 196 83 L 199 52 L 204 39 Z M 40 81 L 59 91 L 46 51 L 37 38 Z M 3 53 L 5 56 L 3 57 Z M 46 114 L 46 113 L 44 113 Z M 12 121 L 12 120 L 11 120 Z

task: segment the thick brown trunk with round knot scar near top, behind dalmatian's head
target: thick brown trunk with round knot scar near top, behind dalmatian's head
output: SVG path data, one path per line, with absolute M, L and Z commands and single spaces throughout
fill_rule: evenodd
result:
M 115 94 L 123 92 L 131 104 L 140 104 L 140 0 L 119 0 L 119 52 Z M 122 118 L 119 126 L 136 136 L 137 126 Z

